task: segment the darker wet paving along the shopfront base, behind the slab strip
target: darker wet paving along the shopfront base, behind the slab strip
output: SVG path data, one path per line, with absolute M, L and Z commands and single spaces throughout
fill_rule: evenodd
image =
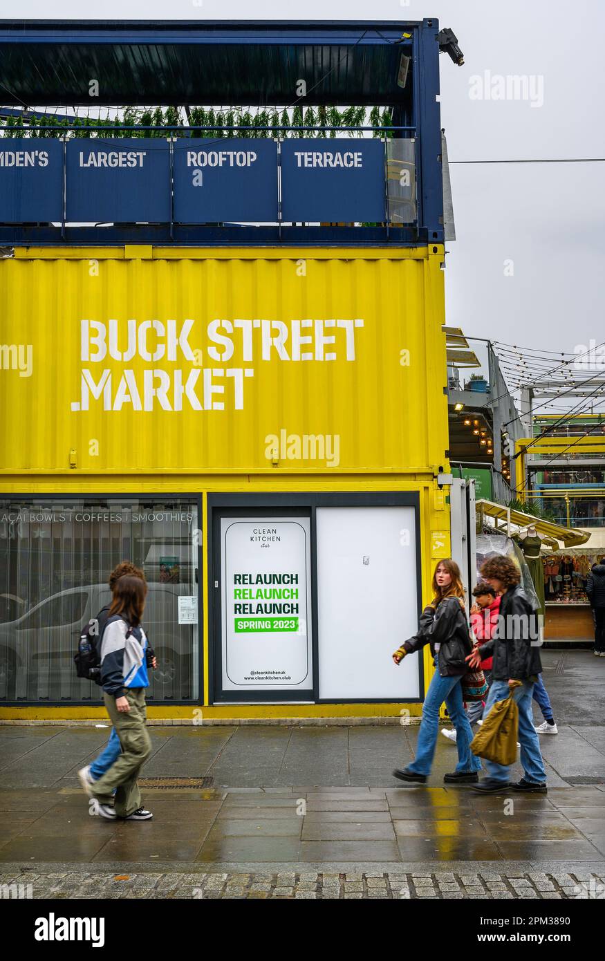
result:
M 543 678 L 559 734 L 542 735 L 550 787 L 605 785 L 605 658 L 590 651 L 545 651 Z M 199 712 L 199 709 L 197 709 Z M 192 709 L 193 711 L 193 709 Z M 538 705 L 534 718 L 542 722 Z M 418 727 L 151 727 L 146 777 L 212 777 L 215 788 L 383 787 L 416 752 Z M 0 726 L 2 788 L 62 788 L 105 746 L 109 727 Z M 432 785 L 456 766 L 440 735 Z M 520 776 L 517 765 L 515 775 Z

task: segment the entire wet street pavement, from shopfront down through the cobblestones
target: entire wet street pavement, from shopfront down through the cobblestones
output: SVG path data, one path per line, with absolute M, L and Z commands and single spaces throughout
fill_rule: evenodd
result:
M 397 722 L 164 726 L 143 769 L 153 821 L 108 822 L 77 780 L 108 727 L 0 726 L 1 883 L 35 897 L 297 899 L 584 898 L 586 884 L 601 898 L 605 663 L 544 662 L 560 730 L 541 737 L 547 796 L 445 786 L 457 752 L 441 735 L 428 786 L 402 785 L 391 769 L 414 757 L 418 728 Z

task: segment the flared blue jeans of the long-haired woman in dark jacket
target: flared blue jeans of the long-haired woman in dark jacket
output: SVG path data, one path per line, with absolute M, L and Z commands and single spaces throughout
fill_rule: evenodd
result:
M 441 678 L 439 671 L 436 671 L 431 678 L 422 705 L 422 722 L 418 731 L 416 760 L 412 764 L 408 764 L 406 771 L 412 771 L 416 775 L 430 774 L 439 735 L 439 712 L 443 702 L 445 702 L 447 713 L 456 728 L 456 747 L 458 748 L 456 771 L 464 771 L 465 773 L 481 771 L 481 761 L 470 750 L 472 731 L 463 706 L 461 680 L 460 677 Z

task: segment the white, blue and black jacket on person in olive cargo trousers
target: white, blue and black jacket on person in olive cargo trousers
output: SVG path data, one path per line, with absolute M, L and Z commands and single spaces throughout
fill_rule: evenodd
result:
M 113 698 L 124 696 L 126 688 L 148 687 L 144 630 L 131 628 L 119 615 L 109 619 L 101 641 L 101 684 Z

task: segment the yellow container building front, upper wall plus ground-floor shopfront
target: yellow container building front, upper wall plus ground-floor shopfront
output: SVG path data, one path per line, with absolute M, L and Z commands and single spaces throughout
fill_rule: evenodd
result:
M 103 716 L 70 649 L 125 551 L 162 653 L 150 718 L 419 713 L 428 649 L 391 651 L 449 551 L 442 259 L 0 260 L 0 717 Z M 264 571 L 297 609 L 254 622 Z

